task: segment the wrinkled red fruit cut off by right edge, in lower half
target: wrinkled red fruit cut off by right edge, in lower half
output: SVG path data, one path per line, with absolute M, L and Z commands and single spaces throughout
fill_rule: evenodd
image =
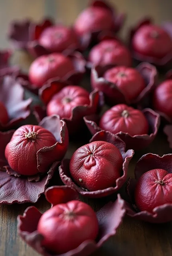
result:
M 172 203 L 172 174 L 163 169 L 145 172 L 135 188 L 135 203 L 140 211 L 152 212 L 157 206 Z

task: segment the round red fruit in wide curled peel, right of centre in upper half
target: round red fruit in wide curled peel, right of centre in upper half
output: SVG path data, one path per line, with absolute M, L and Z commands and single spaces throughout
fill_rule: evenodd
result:
M 108 69 L 103 77 L 118 86 L 129 101 L 138 97 L 146 86 L 143 77 L 134 68 L 117 66 Z

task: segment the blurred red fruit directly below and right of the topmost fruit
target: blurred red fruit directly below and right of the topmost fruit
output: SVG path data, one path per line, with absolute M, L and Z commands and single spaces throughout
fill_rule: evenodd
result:
M 132 64 L 130 51 L 117 40 L 103 40 L 95 45 L 89 53 L 93 65 L 127 66 Z

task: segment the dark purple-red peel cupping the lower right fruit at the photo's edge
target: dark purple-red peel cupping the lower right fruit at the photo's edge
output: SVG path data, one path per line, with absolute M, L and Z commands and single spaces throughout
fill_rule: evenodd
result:
M 152 213 L 148 211 L 139 211 L 139 209 L 135 206 L 134 201 L 134 191 L 140 176 L 147 171 L 159 168 L 171 173 L 171 162 L 172 154 L 167 154 L 160 157 L 159 155 L 148 153 L 139 159 L 135 167 L 135 179 L 130 178 L 127 182 L 127 194 L 130 198 L 130 203 L 125 203 L 127 215 L 132 218 L 151 223 L 164 223 L 172 220 L 172 204 L 163 204 L 161 206 L 157 206 L 153 209 Z

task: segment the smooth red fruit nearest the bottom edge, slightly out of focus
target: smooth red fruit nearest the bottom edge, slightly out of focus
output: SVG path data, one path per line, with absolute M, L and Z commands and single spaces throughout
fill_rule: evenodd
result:
M 46 211 L 37 230 L 44 236 L 42 245 L 48 251 L 62 254 L 77 248 L 85 240 L 95 240 L 98 220 L 88 204 L 73 200 Z

